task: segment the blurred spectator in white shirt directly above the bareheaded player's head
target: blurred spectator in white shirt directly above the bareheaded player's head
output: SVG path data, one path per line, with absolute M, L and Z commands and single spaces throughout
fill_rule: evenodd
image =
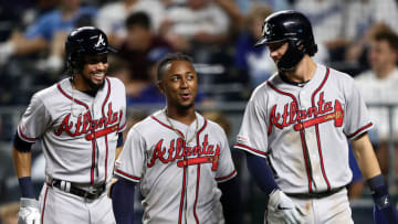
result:
M 166 11 L 160 32 L 175 50 L 192 52 L 197 63 L 208 63 L 211 50 L 228 41 L 229 28 L 228 14 L 212 0 L 187 0 Z

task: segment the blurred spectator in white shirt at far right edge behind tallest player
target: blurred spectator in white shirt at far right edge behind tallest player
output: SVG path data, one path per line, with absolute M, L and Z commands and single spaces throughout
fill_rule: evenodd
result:
M 398 104 L 398 36 L 385 25 L 378 26 L 370 38 L 368 61 L 371 70 L 359 74 L 355 81 L 367 104 Z M 388 108 L 370 107 L 369 113 L 375 122 L 370 140 L 376 145 L 376 154 L 381 171 L 388 170 L 389 120 Z M 394 139 L 398 137 L 398 109 L 394 109 Z M 396 158 L 397 160 L 398 158 Z M 398 161 L 398 160 L 397 160 Z

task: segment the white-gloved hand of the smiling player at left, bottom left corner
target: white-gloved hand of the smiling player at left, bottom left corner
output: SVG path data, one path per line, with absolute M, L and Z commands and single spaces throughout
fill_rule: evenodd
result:
M 18 224 L 40 224 L 39 202 L 35 199 L 21 198 Z

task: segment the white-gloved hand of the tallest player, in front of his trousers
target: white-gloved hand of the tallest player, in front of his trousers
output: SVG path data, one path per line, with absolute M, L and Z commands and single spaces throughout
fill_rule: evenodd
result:
M 304 215 L 305 213 L 281 190 L 275 190 L 270 194 L 265 217 L 270 223 L 304 223 Z

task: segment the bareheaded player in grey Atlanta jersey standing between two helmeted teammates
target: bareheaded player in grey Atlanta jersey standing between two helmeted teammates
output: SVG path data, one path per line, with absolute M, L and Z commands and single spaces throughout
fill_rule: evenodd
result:
M 136 183 L 144 195 L 144 224 L 221 224 L 224 217 L 241 223 L 227 136 L 195 111 L 197 74 L 190 58 L 166 55 L 158 82 L 166 108 L 133 126 L 115 164 L 118 180 L 111 195 L 117 223 L 132 223 Z

